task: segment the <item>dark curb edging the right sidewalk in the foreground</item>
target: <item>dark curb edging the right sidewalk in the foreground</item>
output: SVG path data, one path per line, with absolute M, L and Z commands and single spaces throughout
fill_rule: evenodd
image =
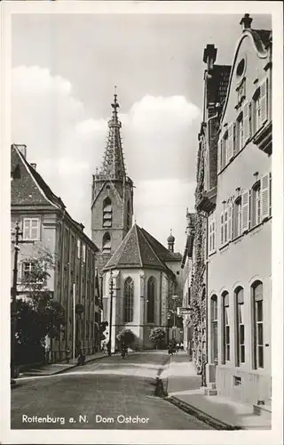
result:
M 192 405 L 189 405 L 188 403 L 185 403 L 185 401 L 180 401 L 177 399 L 177 397 L 170 396 L 170 397 L 164 397 L 165 401 L 169 401 L 173 405 L 175 405 L 177 408 L 182 409 L 185 411 L 185 413 L 190 414 L 205 424 L 208 424 L 210 426 L 213 426 L 215 430 L 243 430 L 241 426 L 227 424 L 221 420 L 218 420 L 215 417 L 210 416 L 209 414 L 205 413 L 204 411 L 201 411 L 201 409 L 195 408 Z

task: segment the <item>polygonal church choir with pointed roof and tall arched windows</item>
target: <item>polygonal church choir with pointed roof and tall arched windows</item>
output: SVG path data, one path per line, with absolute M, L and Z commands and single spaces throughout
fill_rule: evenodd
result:
M 139 349 L 153 349 L 149 338 L 153 328 L 162 328 L 165 340 L 169 338 L 168 312 L 172 297 L 178 293 L 180 261 L 180 254 L 163 247 L 137 224 L 132 226 L 103 269 L 103 315 L 104 321 L 112 326 L 112 352 L 118 346 L 116 337 L 123 328 L 130 328 L 134 333 L 135 346 Z

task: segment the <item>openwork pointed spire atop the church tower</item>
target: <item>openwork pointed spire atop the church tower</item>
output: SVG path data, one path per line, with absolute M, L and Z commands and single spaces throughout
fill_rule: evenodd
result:
M 113 116 L 108 121 L 109 130 L 106 138 L 106 149 L 103 165 L 100 170 L 100 176 L 122 180 L 125 177 L 126 172 L 122 151 L 122 139 L 120 134 L 122 123 L 118 119 L 117 114 L 119 103 L 117 101 L 116 86 L 114 87 L 114 101 L 111 105 L 113 108 Z

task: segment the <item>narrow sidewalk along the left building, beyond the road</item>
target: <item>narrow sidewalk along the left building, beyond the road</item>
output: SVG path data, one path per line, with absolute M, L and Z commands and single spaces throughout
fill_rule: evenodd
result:
M 85 363 L 88 363 L 93 360 L 102 359 L 103 357 L 108 357 L 104 352 L 96 352 L 92 355 L 86 355 Z M 62 372 L 67 371 L 67 369 L 72 369 L 77 367 L 77 359 L 75 359 L 75 363 L 73 359 L 70 359 L 69 363 L 60 362 L 60 363 L 51 363 L 49 365 L 43 365 L 40 368 L 30 368 L 27 371 L 24 371 L 20 374 L 18 379 L 26 376 L 52 376 L 55 374 L 60 374 Z

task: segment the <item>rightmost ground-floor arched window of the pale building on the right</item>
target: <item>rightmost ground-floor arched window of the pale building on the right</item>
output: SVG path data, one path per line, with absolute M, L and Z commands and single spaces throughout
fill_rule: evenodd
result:
M 251 286 L 253 304 L 253 352 L 255 368 L 264 368 L 264 306 L 263 283 L 255 281 Z

